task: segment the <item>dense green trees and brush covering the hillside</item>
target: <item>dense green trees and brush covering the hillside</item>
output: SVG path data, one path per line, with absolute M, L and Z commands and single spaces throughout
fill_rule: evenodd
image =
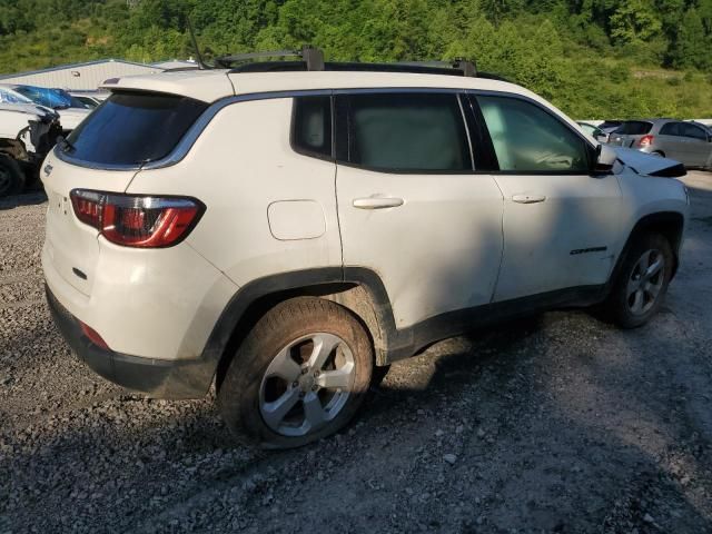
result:
M 476 58 L 577 117 L 712 116 L 712 0 L 2 0 L 0 72 L 310 42 L 333 60 Z

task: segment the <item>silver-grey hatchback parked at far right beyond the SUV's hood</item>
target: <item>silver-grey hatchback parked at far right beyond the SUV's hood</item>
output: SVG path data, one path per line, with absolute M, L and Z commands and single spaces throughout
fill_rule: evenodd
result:
M 675 159 L 685 167 L 712 169 L 712 134 L 698 122 L 626 120 L 611 134 L 609 144 Z

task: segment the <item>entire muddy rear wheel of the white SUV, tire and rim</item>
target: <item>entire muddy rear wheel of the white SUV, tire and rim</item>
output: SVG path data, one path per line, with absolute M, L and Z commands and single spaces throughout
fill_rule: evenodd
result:
M 319 298 L 268 312 L 248 334 L 218 388 L 228 427 L 268 448 L 337 432 L 368 390 L 373 348 L 358 320 Z

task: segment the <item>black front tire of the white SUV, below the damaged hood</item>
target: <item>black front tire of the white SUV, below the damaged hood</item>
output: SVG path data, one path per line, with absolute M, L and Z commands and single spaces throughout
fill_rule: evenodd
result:
M 651 288 L 653 288 L 653 283 L 656 288 L 654 297 L 652 293 L 642 287 L 645 280 L 641 277 L 643 270 L 641 261 L 643 261 L 643 255 L 649 251 L 653 251 L 650 263 L 662 260 L 661 270 L 649 281 Z M 662 305 L 672 278 L 673 267 L 674 255 L 670 241 L 664 236 L 651 233 L 635 237 L 625 253 L 617 278 L 605 303 L 606 316 L 622 328 L 637 328 L 646 324 Z M 636 284 L 640 284 L 641 288 L 631 293 L 631 287 L 636 287 Z M 637 293 L 643 295 L 640 297 L 643 305 L 635 312 Z

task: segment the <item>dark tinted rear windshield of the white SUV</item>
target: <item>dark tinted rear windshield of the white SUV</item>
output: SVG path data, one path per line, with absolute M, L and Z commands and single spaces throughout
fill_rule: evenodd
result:
M 111 95 L 69 136 L 69 155 L 100 165 L 140 165 L 178 145 L 208 105 L 172 95 Z

